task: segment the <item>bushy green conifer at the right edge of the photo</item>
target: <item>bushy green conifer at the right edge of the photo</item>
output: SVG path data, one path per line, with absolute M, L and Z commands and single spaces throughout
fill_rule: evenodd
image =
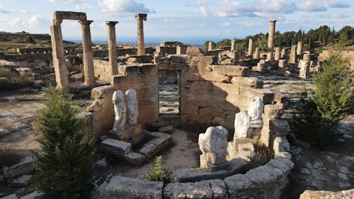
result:
M 346 118 L 348 110 L 353 107 L 353 91 L 350 89 L 353 83 L 345 63 L 339 55 L 332 55 L 314 76 L 314 103 L 321 118 L 332 127 Z

